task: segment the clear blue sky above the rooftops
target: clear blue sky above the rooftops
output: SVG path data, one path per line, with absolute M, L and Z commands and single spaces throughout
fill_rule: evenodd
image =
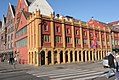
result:
M 119 20 L 119 0 L 47 0 L 54 11 L 60 15 L 88 21 L 94 19 L 103 22 Z M 0 20 L 7 12 L 8 3 L 17 5 L 17 0 L 0 0 Z

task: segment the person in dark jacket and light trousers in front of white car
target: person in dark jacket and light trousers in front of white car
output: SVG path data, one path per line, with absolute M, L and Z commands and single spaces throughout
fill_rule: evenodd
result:
M 115 72 L 116 72 L 114 60 L 115 60 L 115 57 L 112 55 L 112 53 L 110 53 L 108 55 L 108 65 L 109 65 L 110 70 L 107 73 L 107 78 L 112 76 L 111 73 L 115 74 Z

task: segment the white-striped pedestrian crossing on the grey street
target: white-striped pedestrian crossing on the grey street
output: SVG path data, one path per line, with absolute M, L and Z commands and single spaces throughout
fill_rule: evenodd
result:
M 42 72 L 39 70 L 28 71 L 27 73 L 39 78 L 48 76 L 49 80 L 86 80 L 104 76 L 104 72 L 83 69 L 57 69 L 47 72 Z

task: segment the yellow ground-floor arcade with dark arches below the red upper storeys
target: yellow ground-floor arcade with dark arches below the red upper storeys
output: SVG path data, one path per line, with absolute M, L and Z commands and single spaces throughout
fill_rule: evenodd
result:
M 51 49 L 29 50 L 28 63 L 36 66 L 102 60 L 107 49 Z

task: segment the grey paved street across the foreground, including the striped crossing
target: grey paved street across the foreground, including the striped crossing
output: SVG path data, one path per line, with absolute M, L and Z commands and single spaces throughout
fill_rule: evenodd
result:
M 102 62 L 87 62 L 35 67 L 0 63 L 0 80 L 114 80 L 107 79 Z

